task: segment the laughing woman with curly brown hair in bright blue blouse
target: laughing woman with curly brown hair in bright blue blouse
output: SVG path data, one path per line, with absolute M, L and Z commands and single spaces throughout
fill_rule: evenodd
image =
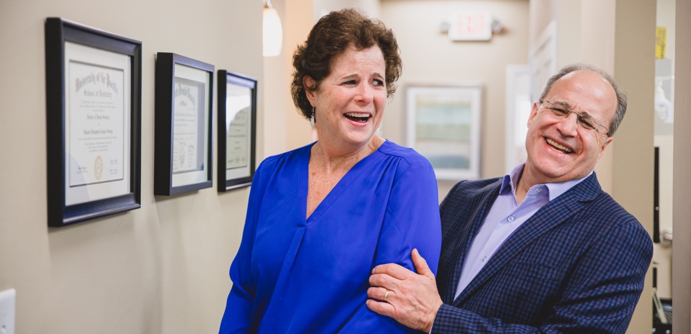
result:
M 370 311 L 377 264 L 436 272 L 429 162 L 375 135 L 401 72 L 391 30 L 356 10 L 320 19 L 293 56 L 292 95 L 319 141 L 265 159 L 252 181 L 220 333 L 397 333 Z

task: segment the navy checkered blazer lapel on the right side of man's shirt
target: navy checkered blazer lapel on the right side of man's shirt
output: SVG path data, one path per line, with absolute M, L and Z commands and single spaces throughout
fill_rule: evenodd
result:
M 595 173 L 593 173 L 587 179 L 567 190 L 566 193 L 563 193 L 556 199 L 545 204 L 545 206 L 542 206 L 533 217 L 530 217 L 509 236 L 453 304 L 458 306 L 464 302 L 464 300 L 471 296 L 477 288 L 480 288 L 484 282 L 495 275 L 502 267 L 507 265 L 513 257 L 518 255 L 521 250 L 526 248 L 536 238 L 540 237 L 540 235 L 547 233 L 547 231 L 559 226 L 576 215 L 576 213 L 583 208 L 585 202 L 592 201 L 600 193 L 602 193 L 602 188 L 600 188 L 598 179 Z M 489 211 L 489 208 L 487 208 L 487 211 Z M 484 216 L 482 217 L 482 221 L 484 221 Z M 482 221 L 480 224 L 482 224 Z M 475 225 L 475 223 L 473 223 L 473 225 Z M 475 230 L 477 230 L 477 228 L 475 228 Z M 470 246 L 470 244 L 468 243 L 467 246 Z M 464 257 L 461 258 L 460 262 L 462 262 L 463 259 Z M 460 268 L 462 268 L 462 265 Z M 460 269 L 458 269 L 458 277 L 454 278 L 457 283 L 460 279 Z

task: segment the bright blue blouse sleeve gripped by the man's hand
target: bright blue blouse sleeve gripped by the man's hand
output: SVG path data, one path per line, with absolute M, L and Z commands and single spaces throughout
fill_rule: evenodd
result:
M 397 175 L 386 204 L 372 268 L 395 263 L 415 271 L 410 252 L 417 248 L 433 273 L 437 273 L 442 247 L 438 198 L 437 179 L 426 159 L 414 161 Z M 400 332 L 422 333 L 371 311 L 364 302 L 341 330 L 341 333 Z

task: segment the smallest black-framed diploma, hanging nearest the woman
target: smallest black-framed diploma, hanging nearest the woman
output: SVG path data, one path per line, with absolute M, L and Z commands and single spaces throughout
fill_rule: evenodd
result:
M 252 184 L 257 81 L 218 71 L 218 191 Z

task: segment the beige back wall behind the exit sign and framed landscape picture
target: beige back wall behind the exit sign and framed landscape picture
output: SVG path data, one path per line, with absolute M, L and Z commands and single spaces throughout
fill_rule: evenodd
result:
M 491 41 L 451 41 L 439 32 L 451 10 L 489 10 L 504 30 Z M 383 136 L 406 145 L 406 85 L 481 83 L 480 176 L 503 175 L 506 66 L 528 61 L 527 17 L 528 1 L 382 1 L 381 19 L 395 32 L 404 63 L 399 88 L 386 107 Z M 439 181 L 439 199 L 453 184 Z

